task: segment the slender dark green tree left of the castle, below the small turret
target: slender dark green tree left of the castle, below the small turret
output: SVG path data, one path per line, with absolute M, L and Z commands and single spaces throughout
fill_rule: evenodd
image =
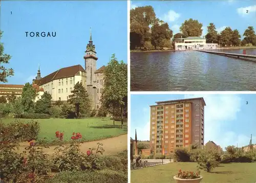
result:
M 22 105 L 25 112 L 32 112 L 34 110 L 34 100 L 36 97 L 36 90 L 30 83 L 26 83 L 22 90 Z

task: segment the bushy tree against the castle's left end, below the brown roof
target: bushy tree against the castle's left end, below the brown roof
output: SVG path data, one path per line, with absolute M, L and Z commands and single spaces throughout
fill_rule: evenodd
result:
M 47 91 L 42 94 L 41 99 L 36 102 L 35 112 L 50 115 L 52 96 Z

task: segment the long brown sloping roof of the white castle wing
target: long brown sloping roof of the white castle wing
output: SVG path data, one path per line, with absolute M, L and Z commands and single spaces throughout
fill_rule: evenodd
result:
M 47 75 L 39 80 L 39 85 L 48 83 L 55 79 L 68 78 L 75 76 L 79 71 L 86 72 L 81 65 L 73 65 L 69 67 L 60 68 L 59 70 Z

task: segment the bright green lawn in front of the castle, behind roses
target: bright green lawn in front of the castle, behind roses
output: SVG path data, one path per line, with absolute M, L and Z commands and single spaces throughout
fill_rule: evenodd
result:
M 2 119 L 3 123 L 10 123 L 14 119 Z M 20 119 L 27 122 L 29 119 Z M 88 118 L 88 119 L 36 119 L 40 124 L 38 139 L 46 138 L 47 142 L 56 140 L 55 132 L 64 132 L 63 140 L 69 141 L 73 132 L 80 132 L 83 141 L 94 141 L 111 138 L 127 133 L 127 123 L 124 123 L 124 129 L 121 129 L 121 122 L 109 118 Z

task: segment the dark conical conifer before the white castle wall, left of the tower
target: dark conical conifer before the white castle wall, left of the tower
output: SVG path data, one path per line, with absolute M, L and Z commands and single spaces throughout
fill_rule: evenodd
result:
M 80 109 L 90 109 L 90 99 L 86 88 L 82 83 L 77 82 L 74 86 L 74 90 L 71 91 L 68 102 L 75 105 L 76 117 L 79 118 Z

